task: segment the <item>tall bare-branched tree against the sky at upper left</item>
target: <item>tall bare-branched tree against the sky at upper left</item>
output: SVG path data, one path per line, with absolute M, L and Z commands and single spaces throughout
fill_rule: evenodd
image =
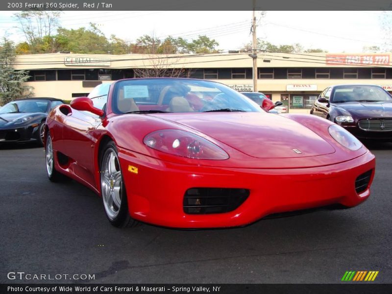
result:
M 59 26 L 60 11 L 21 11 L 14 15 L 31 51 L 39 51 L 44 38 L 50 38 Z

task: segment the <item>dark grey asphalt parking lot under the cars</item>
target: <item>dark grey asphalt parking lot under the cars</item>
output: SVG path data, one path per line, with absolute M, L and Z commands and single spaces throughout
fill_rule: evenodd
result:
M 220 230 L 114 228 L 89 189 L 49 182 L 42 147 L 0 147 L 0 282 L 39 282 L 7 279 L 24 271 L 98 283 L 337 283 L 346 270 L 379 270 L 375 282 L 391 283 L 392 144 L 368 147 L 377 167 L 364 204 Z

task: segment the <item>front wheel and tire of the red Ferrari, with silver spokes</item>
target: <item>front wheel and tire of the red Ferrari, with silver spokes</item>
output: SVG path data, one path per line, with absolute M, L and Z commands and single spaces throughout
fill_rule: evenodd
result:
M 101 196 L 103 208 L 109 222 L 119 228 L 124 227 L 135 227 L 140 224 L 139 221 L 136 221 L 131 218 L 128 209 L 128 199 L 126 196 L 125 185 L 123 181 L 123 173 L 121 171 L 120 162 L 118 159 L 118 149 L 113 141 L 109 141 L 106 146 L 102 149 L 99 156 L 99 172 L 100 172 L 100 188 L 101 188 Z M 114 155 L 115 154 L 115 155 Z M 110 161 L 110 156 L 114 156 L 113 163 L 115 171 L 114 173 L 120 172 L 120 176 L 118 180 L 115 180 L 113 177 L 113 167 L 109 169 L 107 164 Z M 107 183 L 108 177 L 110 177 L 110 186 Z M 120 182 L 121 181 L 121 182 Z M 118 186 L 118 194 L 119 198 L 117 199 L 121 201 L 120 207 L 118 207 L 114 201 L 115 198 L 115 189 L 116 184 Z M 109 190 L 108 190 L 109 189 Z M 112 194 L 112 196 L 110 196 Z M 112 201 L 110 202 L 110 198 Z M 111 203 L 111 204 L 110 204 Z

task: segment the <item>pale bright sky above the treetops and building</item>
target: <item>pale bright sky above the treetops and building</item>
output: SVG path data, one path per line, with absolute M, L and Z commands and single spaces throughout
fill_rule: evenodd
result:
M 12 11 L 0 11 L 0 36 L 15 42 L 23 34 L 15 28 Z M 382 46 L 382 11 L 267 11 L 256 12 L 257 37 L 275 45 L 301 44 L 305 49 L 361 53 L 364 47 Z M 78 28 L 96 23 L 106 35 L 126 41 L 148 34 L 215 39 L 223 51 L 240 49 L 252 39 L 251 11 L 65 11 L 60 24 Z

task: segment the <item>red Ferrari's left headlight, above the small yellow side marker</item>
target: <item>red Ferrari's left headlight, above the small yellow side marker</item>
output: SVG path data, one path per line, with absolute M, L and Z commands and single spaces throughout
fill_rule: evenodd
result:
M 183 130 L 154 131 L 149 133 L 143 142 L 153 149 L 182 157 L 214 160 L 229 158 L 229 155 L 221 147 Z

